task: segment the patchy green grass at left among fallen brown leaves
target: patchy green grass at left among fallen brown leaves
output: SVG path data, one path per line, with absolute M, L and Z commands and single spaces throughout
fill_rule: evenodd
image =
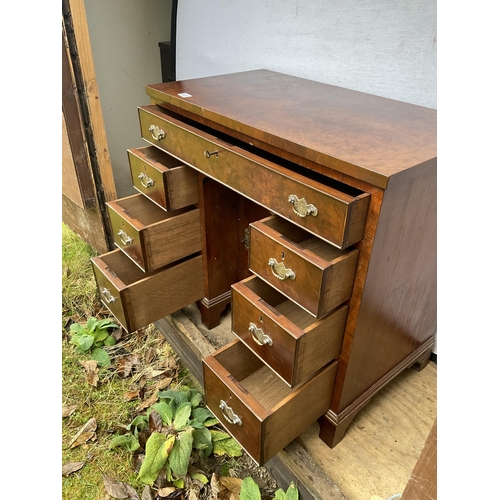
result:
M 62 227 L 62 406 L 77 406 L 62 419 L 62 464 L 85 462 L 79 471 L 62 477 L 63 500 L 101 500 L 107 498 L 103 475 L 123 481 L 136 488 L 139 495 L 143 485 L 138 481 L 132 455 L 119 448 L 109 450 L 109 442 L 117 425 L 128 425 L 138 412 L 139 402 L 126 401 L 127 391 L 137 388 L 141 370 L 155 368 L 173 358 L 171 347 L 154 325 L 124 337 L 114 346 L 116 353 L 134 353 L 141 360 L 131 377 L 120 378 L 110 370 L 99 372 L 100 384 L 93 387 L 86 380 L 80 361 L 89 359 L 77 355 L 65 330 L 69 319 L 84 323 L 89 316 L 108 317 L 100 304 L 90 257 L 97 253 L 67 226 Z M 146 353 L 156 353 L 154 361 L 145 361 Z M 148 360 L 150 357 L 147 358 Z M 158 367 L 158 366 L 156 366 Z M 154 381 L 147 381 L 146 388 Z M 97 420 L 97 439 L 69 448 L 71 439 L 90 419 Z M 50 495 L 49 495 L 50 496 Z

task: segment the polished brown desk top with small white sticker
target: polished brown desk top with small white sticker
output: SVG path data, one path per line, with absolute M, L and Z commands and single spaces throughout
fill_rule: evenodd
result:
M 436 158 L 436 110 L 269 70 L 159 83 L 146 92 L 256 145 L 382 188 Z

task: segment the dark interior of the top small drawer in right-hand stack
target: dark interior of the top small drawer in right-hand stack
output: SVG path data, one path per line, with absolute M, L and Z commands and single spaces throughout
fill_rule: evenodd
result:
M 337 259 L 345 253 L 345 251 L 326 243 L 298 226 L 290 224 L 281 217 L 273 216 L 261 222 L 280 233 L 284 238 L 299 246 L 301 249 L 308 250 L 328 262 Z

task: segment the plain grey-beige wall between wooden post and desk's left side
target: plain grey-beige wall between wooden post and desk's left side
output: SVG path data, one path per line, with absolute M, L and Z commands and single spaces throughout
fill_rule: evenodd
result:
M 119 198 L 133 194 L 127 149 L 145 146 L 137 106 L 161 82 L 158 42 L 170 40 L 171 0 L 85 0 L 87 22 Z

